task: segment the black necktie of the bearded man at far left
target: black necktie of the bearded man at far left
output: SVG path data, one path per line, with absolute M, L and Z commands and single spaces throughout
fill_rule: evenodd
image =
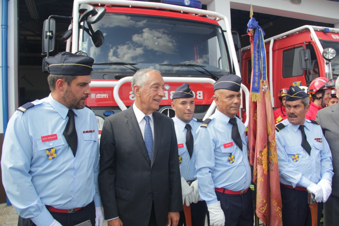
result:
M 75 154 L 77 153 L 78 149 L 78 135 L 77 130 L 75 129 L 74 112 L 72 109 L 68 109 L 67 116 L 68 121 L 63 132 L 63 135 L 65 136 L 66 141 L 69 147 L 71 147 L 73 155 L 75 157 Z

